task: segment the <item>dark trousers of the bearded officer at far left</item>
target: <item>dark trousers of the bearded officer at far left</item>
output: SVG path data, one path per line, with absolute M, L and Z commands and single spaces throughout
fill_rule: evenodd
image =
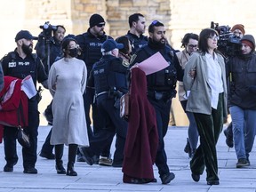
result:
M 35 167 L 37 159 L 37 135 L 39 126 L 39 112 L 36 100 L 28 100 L 28 127 L 24 131 L 29 135 L 30 148 L 22 148 L 23 167 Z M 18 162 L 16 139 L 17 127 L 4 126 L 4 155 L 6 163 L 13 166 Z

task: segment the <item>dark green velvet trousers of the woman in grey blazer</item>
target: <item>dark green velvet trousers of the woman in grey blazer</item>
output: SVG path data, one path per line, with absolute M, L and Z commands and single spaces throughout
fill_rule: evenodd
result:
M 211 115 L 194 113 L 200 135 L 200 145 L 190 161 L 191 172 L 203 174 L 206 166 L 206 180 L 219 180 L 216 144 L 223 128 L 223 93 L 220 93 L 217 109 Z

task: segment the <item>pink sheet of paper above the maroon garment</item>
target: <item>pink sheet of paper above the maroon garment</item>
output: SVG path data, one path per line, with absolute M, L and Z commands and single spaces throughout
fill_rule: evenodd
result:
M 143 70 L 146 76 L 156 73 L 157 71 L 167 68 L 169 63 L 164 60 L 164 57 L 160 52 L 156 52 L 154 55 L 149 57 L 147 60 L 143 60 L 140 63 L 137 63 L 137 67 Z

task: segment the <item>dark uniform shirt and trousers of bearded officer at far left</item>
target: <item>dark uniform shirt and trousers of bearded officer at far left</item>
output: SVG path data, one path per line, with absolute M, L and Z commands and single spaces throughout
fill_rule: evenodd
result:
M 44 66 L 36 54 L 27 55 L 25 59 L 20 58 L 16 50 L 9 52 L 2 60 L 4 76 L 14 76 L 20 79 L 30 75 L 36 86 L 36 80 L 42 83 L 47 80 Z M 28 127 L 24 129 L 29 135 L 30 148 L 22 148 L 24 170 L 35 168 L 37 135 L 39 126 L 39 112 L 36 96 L 28 100 Z M 16 151 L 17 129 L 4 126 L 4 154 L 7 165 L 12 167 L 18 162 Z

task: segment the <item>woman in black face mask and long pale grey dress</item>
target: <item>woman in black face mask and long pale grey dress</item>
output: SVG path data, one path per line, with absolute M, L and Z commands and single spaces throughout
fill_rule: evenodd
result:
M 83 100 L 87 70 L 84 61 L 76 59 L 78 50 L 75 39 L 63 40 L 62 50 L 64 58 L 53 63 L 48 79 L 54 118 L 51 144 L 55 146 L 57 173 L 76 176 L 74 163 L 77 147 L 89 146 Z M 68 145 L 67 172 L 61 160 L 64 144 Z

